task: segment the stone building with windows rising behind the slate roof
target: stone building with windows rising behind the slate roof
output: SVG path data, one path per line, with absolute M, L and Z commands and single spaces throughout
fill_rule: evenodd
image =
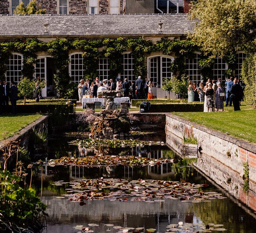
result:
M 19 3 L 31 0 L 1 0 L 0 14 L 13 14 Z M 191 0 L 37 0 L 47 14 L 152 14 L 188 13 Z M 179 12 L 177 12 L 177 3 Z

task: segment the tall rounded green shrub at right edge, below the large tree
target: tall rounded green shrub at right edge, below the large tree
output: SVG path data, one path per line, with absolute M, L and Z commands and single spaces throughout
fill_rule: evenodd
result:
M 241 75 L 246 85 L 244 100 L 248 105 L 256 108 L 256 54 L 250 55 L 243 62 Z

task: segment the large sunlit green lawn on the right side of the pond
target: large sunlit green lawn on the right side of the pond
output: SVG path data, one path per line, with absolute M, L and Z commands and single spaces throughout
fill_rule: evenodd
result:
M 256 110 L 251 110 L 250 107 L 242 105 L 241 111 L 234 112 L 233 107 L 224 107 L 224 111 L 227 112 L 173 114 L 237 138 L 256 143 Z

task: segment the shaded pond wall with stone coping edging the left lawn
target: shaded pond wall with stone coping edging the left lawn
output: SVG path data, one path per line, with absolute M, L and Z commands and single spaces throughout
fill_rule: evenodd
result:
M 13 136 L 0 141 L 0 150 L 4 149 L 4 147 L 6 147 L 8 144 L 14 141 L 19 141 L 20 146 L 21 147 L 24 146 L 25 149 L 27 149 L 28 141 L 29 141 L 29 137 L 32 132 L 32 129 L 42 128 L 44 125 L 48 129 L 48 116 L 41 116 L 36 121 L 22 128 L 19 132 L 15 133 Z

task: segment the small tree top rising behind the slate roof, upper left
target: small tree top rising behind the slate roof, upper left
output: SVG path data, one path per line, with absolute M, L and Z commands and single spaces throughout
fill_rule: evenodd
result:
M 46 10 L 42 9 L 41 4 L 37 3 L 37 0 L 32 0 L 27 6 L 21 2 L 13 11 L 16 15 L 43 15 L 46 14 Z

